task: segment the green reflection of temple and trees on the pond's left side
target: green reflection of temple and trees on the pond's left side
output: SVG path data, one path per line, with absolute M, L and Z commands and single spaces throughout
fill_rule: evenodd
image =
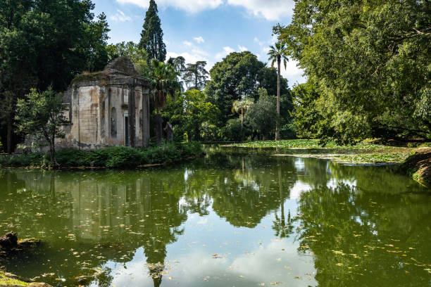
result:
M 50 265 L 61 266 L 56 276 L 73 279 L 94 273 L 82 270 L 77 262 L 92 267 L 108 260 L 127 262 L 143 247 L 149 274 L 159 286 L 166 245 L 177 241 L 183 232 L 180 225 L 187 219 L 187 210 L 180 206 L 182 175 L 182 170 L 169 174 L 53 172 L 42 177 L 39 172 L 6 173 L 7 181 L 0 182 L 0 188 L 5 188 L 0 193 L 2 213 L 15 229 L 32 230 L 36 232 L 32 236 L 49 243 L 26 254 L 28 258 L 6 262 L 6 268 L 19 273 L 22 270 L 15 265 L 28 266 L 25 276 L 39 276 L 46 272 L 39 262 L 50 260 Z M 76 260 L 71 253 L 78 256 Z M 100 286 L 110 286 L 108 273 L 97 277 Z

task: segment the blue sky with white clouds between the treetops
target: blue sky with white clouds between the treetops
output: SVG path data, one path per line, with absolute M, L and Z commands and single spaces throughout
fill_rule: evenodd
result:
M 108 42 L 139 42 L 149 0 L 93 0 L 94 13 L 106 14 Z M 233 51 L 251 51 L 267 63 L 268 50 L 277 40 L 273 26 L 287 25 L 293 0 L 156 0 L 169 57 L 186 63 L 206 60 L 207 70 Z M 289 60 L 282 75 L 289 86 L 306 82 L 303 72 Z

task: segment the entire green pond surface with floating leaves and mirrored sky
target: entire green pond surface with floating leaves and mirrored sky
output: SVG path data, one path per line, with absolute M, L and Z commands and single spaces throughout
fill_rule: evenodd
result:
M 53 286 L 431 286 L 430 189 L 269 153 L 0 170 L 0 234 L 42 241 L 0 266 Z

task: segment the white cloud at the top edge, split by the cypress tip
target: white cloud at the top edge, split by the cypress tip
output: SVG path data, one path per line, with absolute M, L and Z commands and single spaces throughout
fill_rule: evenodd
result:
M 142 8 L 148 8 L 148 0 L 117 0 L 120 4 L 135 4 Z M 214 9 L 223 4 L 223 0 L 158 0 L 157 5 L 163 8 L 168 6 L 198 13 L 206 9 Z

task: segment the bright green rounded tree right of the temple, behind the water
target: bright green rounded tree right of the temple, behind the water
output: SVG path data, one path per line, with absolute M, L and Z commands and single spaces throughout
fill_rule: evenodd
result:
M 204 93 L 199 90 L 189 90 L 176 98 L 170 98 L 163 116 L 170 119 L 177 138 L 187 133 L 189 141 L 200 141 L 202 135 L 213 138 L 215 130 L 213 123 L 219 113 L 215 105 L 206 101 Z M 204 123 L 206 123 L 206 129 L 204 129 Z

